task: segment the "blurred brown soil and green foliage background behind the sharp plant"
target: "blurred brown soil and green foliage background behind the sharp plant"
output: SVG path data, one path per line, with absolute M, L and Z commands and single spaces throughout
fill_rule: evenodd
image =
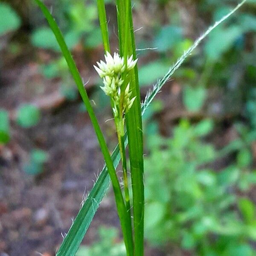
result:
M 104 52 L 96 2 L 44 3 L 114 148 L 109 99 L 93 69 Z M 112 0 L 105 3 L 111 49 L 117 52 L 116 7 Z M 143 99 L 238 2 L 133 3 Z M 147 256 L 256 253 L 255 14 L 256 1 L 247 0 L 217 27 L 143 117 Z M 33 1 L 1 1 L 0 256 L 55 255 L 102 167 L 90 119 L 41 11 Z M 112 191 L 77 253 L 85 255 L 125 255 Z

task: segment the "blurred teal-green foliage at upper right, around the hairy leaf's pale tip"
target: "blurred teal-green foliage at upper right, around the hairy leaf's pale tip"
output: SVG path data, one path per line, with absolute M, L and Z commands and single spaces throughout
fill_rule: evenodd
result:
M 170 2 L 166 1 L 163 4 L 168 8 L 171 5 Z M 204 20 L 204 17 L 208 17 L 208 22 L 209 19 L 215 21 L 227 14 L 230 11 L 230 3 L 229 0 L 205 0 L 194 4 L 194 7 L 197 9 L 198 18 L 201 17 Z M 183 103 L 188 111 L 202 110 L 208 96 L 207 88 L 220 88 L 225 93 L 224 99 L 221 100 L 222 113 L 239 115 L 246 108 L 245 116 L 249 119 L 255 116 L 249 116 L 248 112 L 249 109 L 250 113 L 253 111 L 250 95 L 256 81 L 254 75 L 256 73 L 255 1 L 247 2 L 247 5 L 249 8 L 244 9 L 239 15 L 234 15 L 227 23 L 218 26 L 207 38 L 203 52 L 196 52 L 188 65 L 174 74 L 178 82 L 182 81 L 182 84 L 186 85 L 183 88 Z M 191 6 L 193 9 L 193 3 Z M 163 76 L 175 58 L 192 44 L 191 40 L 184 35 L 184 29 L 176 25 L 180 24 L 176 9 L 173 11 L 171 9 L 169 12 L 166 18 L 172 25 L 159 26 L 155 20 L 152 24 L 154 36 L 147 41 L 139 42 L 142 45 L 138 48 L 149 45 L 153 49 L 156 48 L 154 51 L 158 53 L 156 60 L 145 64 L 140 69 L 140 85 L 152 84 Z M 192 20 L 191 23 L 194 21 Z M 200 22 L 196 24 L 200 25 Z M 195 31 L 197 30 L 197 26 L 191 26 Z M 220 41 L 220 38 L 225 40 Z

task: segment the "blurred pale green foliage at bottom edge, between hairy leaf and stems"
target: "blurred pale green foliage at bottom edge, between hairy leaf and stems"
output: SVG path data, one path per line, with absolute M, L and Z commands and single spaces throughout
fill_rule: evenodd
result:
M 118 241 L 116 228 L 99 227 L 99 241 L 79 247 L 76 256 L 125 256 L 125 244 Z

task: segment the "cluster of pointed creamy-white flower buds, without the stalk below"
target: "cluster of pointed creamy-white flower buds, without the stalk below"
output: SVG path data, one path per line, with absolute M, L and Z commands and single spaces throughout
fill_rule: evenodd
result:
M 120 57 L 118 53 L 114 53 L 112 57 L 109 52 L 105 55 L 105 60 L 97 62 L 99 67 L 94 66 L 97 73 L 101 78 L 103 78 L 104 86 L 101 86 L 101 89 L 106 93 L 106 95 L 110 96 L 114 102 L 113 113 L 115 116 L 118 116 L 118 108 L 120 102 L 120 94 L 121 94 L 121 85 L 124 80 L 122 80 L 122 74 L 126 71 L 129 72 L 132 70 L 136 63 L 137 59 L 133 60 L 133 56 L 127 58 L 127 67 L 125 66 L 124 58 Z M 125 70 L 126 69 L 126 70 Z M 123 113 L 127 113 L 131 108 L 136 97 L 130 99 L 131 92 L 129 92 L 130 84 L 127 85 L 125 89 L 124 101 L 123 101 Z

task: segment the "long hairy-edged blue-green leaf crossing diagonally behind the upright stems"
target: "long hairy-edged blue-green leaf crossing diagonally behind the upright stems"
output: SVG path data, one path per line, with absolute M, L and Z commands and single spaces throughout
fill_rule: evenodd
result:
M 242 4 L 244 4 L 246 0 L 241 2 L 235 9 L 233 9 L 228 15 L 223 17 L 221 20 L 216 22 L 213 26 L 211 26 L 195 43 L 190 47 L 184 54 L 177 60 L 177 62 L 170 68 L 169 72 L 161 79 L 157 84 L 153 87 L 152 91 L 148 92 L 148 96 L 146 97 L 145 101 L 141 105 L 142 114 L 145 113 L 145 110 L 148 108 L 149 104 L 152 102 L 156 94 L 160 91 L 163 84 L 170 79 L 170 76 L 177 70 L 178 67 L 183 64 L 185 59 L 189 57 L 190 53 L 201 43 L 201 41 L 220 23 L 226 20 L 230 15 L 236 12 Z M 127 145 L 127 140 L 125 141 L 125 145 Z M 114 166 L 116 167 L 120 161 L 119 155 L 119 148 L 116 146 L 112 156 L 111 156 Z M 109 187 L 109 180 L 110 177 L 108 175 L 108 169 L 104 166 L 102 172 L 100 173 L 96 183 L 93 186 L 93 189 L 90 191 L 90 194 L 87 197 L 87 200 L 84 202 L 83 206 L 81 207 L 73 225 L 70 227 L 67 236 L 64 238 L 63 243 L 58 251 L 58 256 L 68 255 L 74 256 L 81 240 L 83 239 L 87 228 L 89 227 L 94 214 L 96 213 L 97 209 L 99 208 L 99 204 L 102 201 L 105 192 Z M 62 252 L 69 252 L 69 254 L 61 254 Z

